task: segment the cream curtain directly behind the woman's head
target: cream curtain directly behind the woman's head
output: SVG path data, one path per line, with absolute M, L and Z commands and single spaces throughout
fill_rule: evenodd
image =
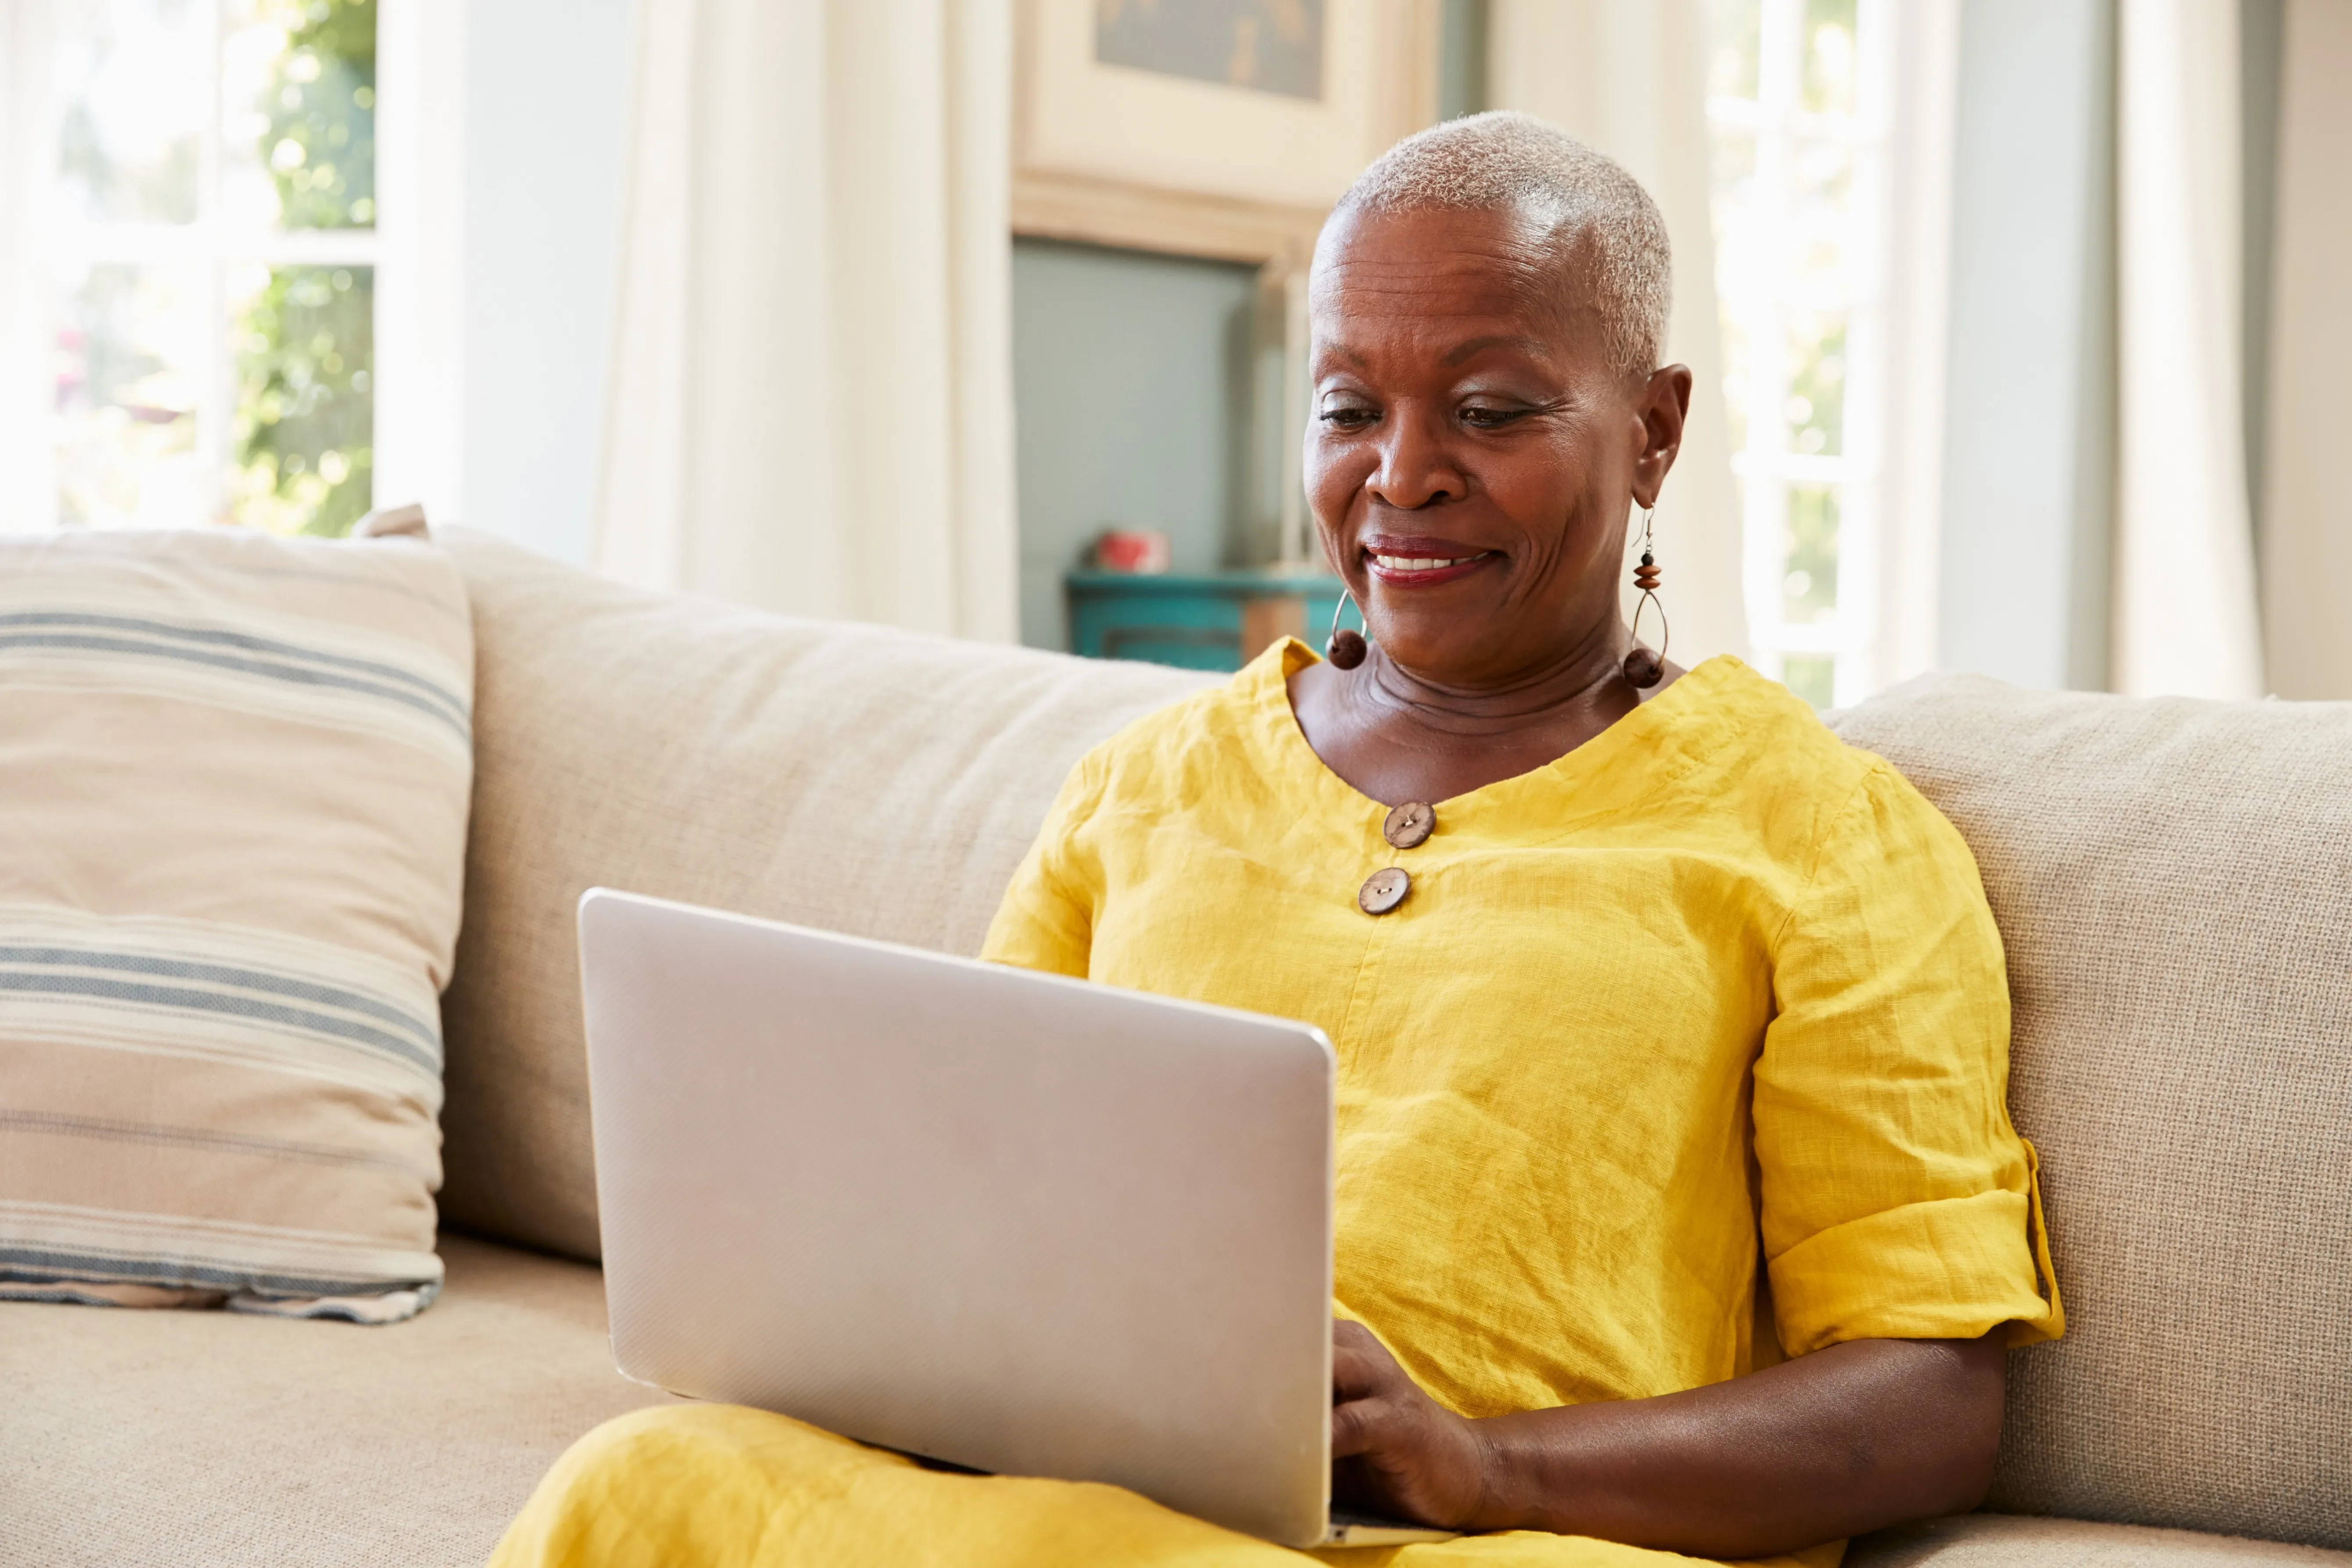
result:
M 1698 0 L 1494 0 L 1486 94 L 1559 125 L 1649 188 L 1675 240 L 1668 362 L 1691 367 L 1691 421 L 1658 498 L 1658 599 L 1672 658 L 1748 656 L 1740 510 L 1708 209 L 1708 47 Z

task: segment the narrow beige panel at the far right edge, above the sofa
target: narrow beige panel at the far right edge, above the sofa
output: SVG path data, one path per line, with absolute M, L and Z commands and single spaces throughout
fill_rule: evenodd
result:
M 2352 5 L 2288 0 L 2270 296 L 2270 686 L 2352 698 Z

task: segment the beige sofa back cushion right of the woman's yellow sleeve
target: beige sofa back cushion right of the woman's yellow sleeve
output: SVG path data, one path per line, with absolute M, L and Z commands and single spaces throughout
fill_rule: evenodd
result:
M 1938 677 L 1837 729 L 2009 950 L 2067 1335 L 2011 1356 L 1992 1507 L 2352 1547 L 2352 705 Z

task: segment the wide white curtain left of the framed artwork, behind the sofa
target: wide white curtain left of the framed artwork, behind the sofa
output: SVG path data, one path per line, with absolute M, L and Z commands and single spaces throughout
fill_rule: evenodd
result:
M 1009 0 L 644 0 L 595 564 L 1011 642 Z

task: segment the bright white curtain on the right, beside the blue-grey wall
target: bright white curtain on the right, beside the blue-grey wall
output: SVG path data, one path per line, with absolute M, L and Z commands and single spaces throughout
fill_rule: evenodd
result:
M 2133 696 L 2263 693 L 2237 26 L 2234 0 L 2117 9 L 2114 689 Z

